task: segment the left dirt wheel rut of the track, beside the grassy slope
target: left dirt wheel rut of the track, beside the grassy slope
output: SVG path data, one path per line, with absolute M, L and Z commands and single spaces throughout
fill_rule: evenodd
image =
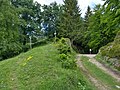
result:
M 97 90 L 110 90 L 109 87 L 107 87 L 105 84 L 103 84 L 101 81 L 97 80 L 95 77 L 93 77 L 89 73 L 89 71 L 82 64 L 82 62 L 80 60 L 80 56 L 81 55 L 77 56 L 77 65 L 82 70 L 82 72 L 84 73 L 84 75 L 86 75 L 86 77 L 88 77 L 88 79 L 90 80 L 90 82 L 94 84 L 94 86 L 97 88 Z

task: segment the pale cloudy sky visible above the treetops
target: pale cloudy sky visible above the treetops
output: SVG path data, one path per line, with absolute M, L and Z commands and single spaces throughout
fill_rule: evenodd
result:
M 41 5 L 46 4 L 49 5 L 50 3 L 56 1 L 58 4 L 63 4 L 63 0 L 34 0 L 39 2 Z M 84 14 L 87 10 L 88 5 L 93 8 L 95 4 L 103 4 L 104 2 L 102 0 L 78 0 L 78 5 L 81 9 L 82 17 L 84 17 Z

